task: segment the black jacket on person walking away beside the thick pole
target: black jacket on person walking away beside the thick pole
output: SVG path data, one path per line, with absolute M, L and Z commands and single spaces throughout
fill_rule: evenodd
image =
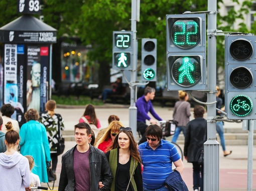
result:
M 203 117 L 197 117 L 187 124 L 184 156 L 188 157 L 188 162 L 197 162 L 203 144 L 207 139 L 207 121 Z

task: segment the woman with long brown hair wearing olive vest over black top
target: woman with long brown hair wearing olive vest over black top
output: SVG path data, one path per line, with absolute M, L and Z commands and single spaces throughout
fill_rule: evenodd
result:
M 111 191 L 142 191 L 142 160 L 131 127 L 120 127 L 111 150 L 106 153 L 114 176 Z

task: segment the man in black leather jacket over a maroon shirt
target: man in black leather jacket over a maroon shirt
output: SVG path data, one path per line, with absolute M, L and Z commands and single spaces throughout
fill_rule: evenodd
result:
M 77 145 L 62 155 L 59 191 L 109 190 L 113 179 L 103 151 L 88 143 L 91 128 L 81 122 L 75 125 Z

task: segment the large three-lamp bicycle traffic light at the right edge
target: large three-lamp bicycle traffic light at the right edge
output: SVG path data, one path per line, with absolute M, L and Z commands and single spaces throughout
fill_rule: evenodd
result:
M 225 110 L 228 119 L 256 119 L 256 36 L 225 36 Z

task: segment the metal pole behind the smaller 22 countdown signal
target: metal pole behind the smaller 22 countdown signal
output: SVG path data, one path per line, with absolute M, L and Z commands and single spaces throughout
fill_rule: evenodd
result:
M 135 106 L 135 92 L 136 92 L 136 56 L 137 56 L 137 39 L 136 39 L 136 10 L 137 10 L 137 2 L 136 0 L 132 0 L 132 19 L 131 19 L 131 29 L 133 32 L 133 70 L 131 71 L 131 104 L 129 107 L 129 126 L 132 128 L 134 133 L 135 140 L 137 141 L 137 107 Z

